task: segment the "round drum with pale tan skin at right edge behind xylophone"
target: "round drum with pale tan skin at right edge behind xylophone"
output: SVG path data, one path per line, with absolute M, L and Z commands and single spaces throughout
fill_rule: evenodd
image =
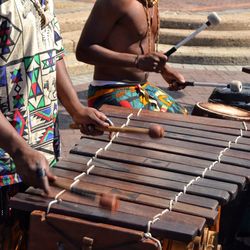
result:
M 250 121 L 249 111 L 221 103 L 198 102 L 194 106 L 192 115 L 228 120 Z

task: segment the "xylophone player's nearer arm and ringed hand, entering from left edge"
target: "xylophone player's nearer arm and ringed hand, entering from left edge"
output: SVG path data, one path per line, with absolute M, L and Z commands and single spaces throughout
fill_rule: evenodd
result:
M 49 172 L 49 164 L 46 158 L 24 141 L 2 112 L 0 112 L 0 131 L 0 147 L 14 160 L 16 171 L 23 182 L 42 188 L 48 194 L 50 192 L 48 179 L 54 180 L 54 176 Z M 46 176 L 39 177 L 37 175 L 37 169 L 39 168 L 45 169 Z

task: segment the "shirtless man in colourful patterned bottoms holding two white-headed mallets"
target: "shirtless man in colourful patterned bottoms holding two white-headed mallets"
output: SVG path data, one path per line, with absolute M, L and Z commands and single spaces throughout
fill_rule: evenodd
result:
M 185 87 L 184 77 L 155 49 L 159 36 L 157 0 L 97 0 L 80 36 L 76 57 L 93 64 L 88 105 L 103 104 L 186 114 L 170 95 L 148 81 L 162 75 L 171 90 Z M 94 31 L 94 32 L 93 32 Z

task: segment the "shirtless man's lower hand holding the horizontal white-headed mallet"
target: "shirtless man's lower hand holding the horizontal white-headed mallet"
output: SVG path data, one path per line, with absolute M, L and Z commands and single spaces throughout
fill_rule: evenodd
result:
M 179 72 L 175 71 L 168 65 L 165 65 L 161 72 L 164 80 L 169 84 L 169 90 L 178 91 L 186 87 L 185 78 Z

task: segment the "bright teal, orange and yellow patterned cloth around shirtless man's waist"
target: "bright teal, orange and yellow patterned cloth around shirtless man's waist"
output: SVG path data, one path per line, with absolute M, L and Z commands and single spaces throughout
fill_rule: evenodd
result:
M 88 105 L 99 109 L 103 104 L 187 114 L 187 110 L 170 95 L 149 82 L 122 87 L 90 85 Z

